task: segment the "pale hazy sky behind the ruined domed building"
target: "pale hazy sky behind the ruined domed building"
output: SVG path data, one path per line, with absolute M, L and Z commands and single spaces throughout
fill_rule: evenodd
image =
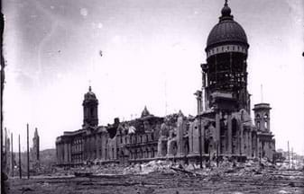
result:
M 82 125 L 89 82 L 99 124 L 196 114 L 207 35 L 224 0 L 4 0 L 5 127 L 41 149 Z M 277 148 L 304 154 L 303 0 L 230 0 L 246 31 L 252 102 L 272 106 Z M 99 51 L 103 51 L 100 57 Z M 253 105 L 253 104 L 252 104 Z M 17 142 L 14 141 L 14 147 Z

